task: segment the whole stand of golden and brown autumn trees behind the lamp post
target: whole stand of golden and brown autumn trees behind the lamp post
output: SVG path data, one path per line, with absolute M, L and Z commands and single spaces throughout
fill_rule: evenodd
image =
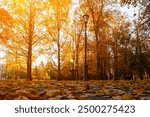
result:
M 1 77 L 82 80 L 84 21 L 88 21 L 88 78 L 148 79 L 150 2 L 145 0 L 1 0 Z M 138 9 L 134 20 L 117 6 Z M 47 63 L 35 65 L 38 56 Z

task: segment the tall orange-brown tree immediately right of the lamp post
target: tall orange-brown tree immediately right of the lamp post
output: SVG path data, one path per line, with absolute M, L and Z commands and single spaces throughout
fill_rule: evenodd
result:
M 113 19 L 111 10 L 108 7 L 108 5 L 113 4 L 113 2 L 111 3 L 110 1 L 105 0 L 84 0 L 79 3 L 83 13 L 88 13 L 90 15 L 91 30 L 95 36 L 96 77 L 97 79 L 103 79 L 106 76 L 106 68 L 104 66 L 107 63 L 104 60 L 105 57 L 102 52 L 105 51 L 105 54 L 109 53 L 107 53 L 107 44 L 103 44 L 102 42 L 107 40 L 107 33 L 110 28 L 108 22 L 111 22 Z

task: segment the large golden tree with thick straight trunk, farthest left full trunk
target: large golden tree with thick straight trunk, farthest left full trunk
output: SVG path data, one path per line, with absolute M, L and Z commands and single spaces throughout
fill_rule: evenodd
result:
M 25 59 L 27 67 L 27 80 L 32 80 L 32 62 L 37 51 L 38 44 L 44 39 L 41 26 L 44 1 L 39 0 L 15 0 L 8 1 L 8 10 L 14 19 L 13 37 L 9 43 L 9 49 L 17 50 L 17 54 Z M 13 45 L 12 45 L 13 44 Z

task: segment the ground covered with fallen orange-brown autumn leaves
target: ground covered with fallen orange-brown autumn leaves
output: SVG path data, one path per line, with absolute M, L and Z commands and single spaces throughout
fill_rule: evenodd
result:
M 1 100 L 150 100 L 145 81 L 0 81 Z

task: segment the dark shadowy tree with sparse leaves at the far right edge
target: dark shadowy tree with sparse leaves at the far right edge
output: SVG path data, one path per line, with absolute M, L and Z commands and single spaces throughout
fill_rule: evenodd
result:
M 134 30 L 129 34 L 132 38 L 134 55 L 131 68 L 138 73 L 139 78 L 144 79 L 144 74 L 149 73 L 149 37 L 150 37 L 150 1 L 121 1 L 122 5 L 138 8 L 137 19 L 134 21 Z

